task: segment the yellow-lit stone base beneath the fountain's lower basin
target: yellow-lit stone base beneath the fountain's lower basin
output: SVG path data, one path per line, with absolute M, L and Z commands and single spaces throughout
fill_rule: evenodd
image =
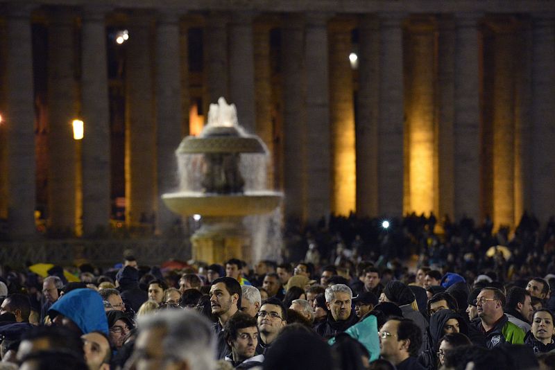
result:
M 192 258 L 223 263 L 230 258 L 250 259 L 250 236 L 241 218 L 203 218 L 203 226 L 191 236 Z

